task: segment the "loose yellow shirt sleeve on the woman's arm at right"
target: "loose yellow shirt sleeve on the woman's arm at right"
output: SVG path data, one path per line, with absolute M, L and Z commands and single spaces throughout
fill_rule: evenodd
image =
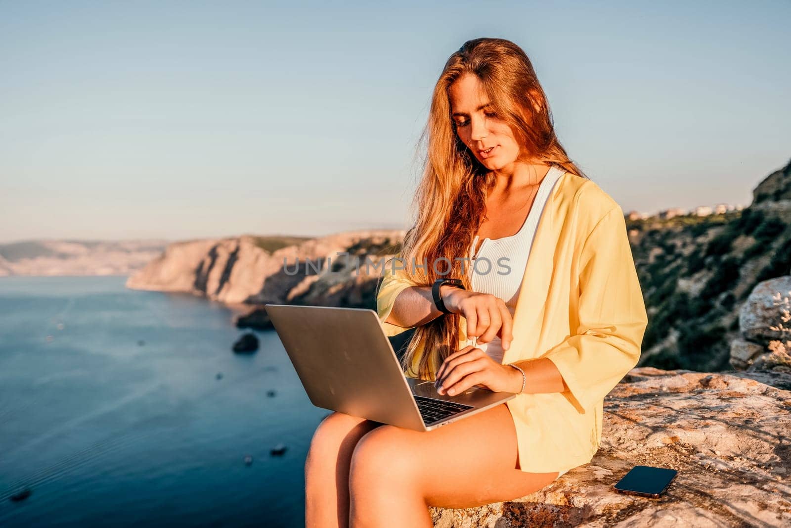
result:
M 577 331 L 543 357 L 558 367 L 569 386 L 566 397 L 585 412 L 637 365 L 648 325 L 621 207 L 593 227 L 578 269 Z

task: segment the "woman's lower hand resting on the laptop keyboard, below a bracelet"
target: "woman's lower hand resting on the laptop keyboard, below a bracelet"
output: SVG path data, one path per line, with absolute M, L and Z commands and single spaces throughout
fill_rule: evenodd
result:
M 437 393 L 448 396 L 463 393 L 471 386 L 517 393 L 522 387 L 522 374 L 508 365 L 496 363 L 480 348 L 467 345 L 445 358 L 437 370 L 434 386 Z

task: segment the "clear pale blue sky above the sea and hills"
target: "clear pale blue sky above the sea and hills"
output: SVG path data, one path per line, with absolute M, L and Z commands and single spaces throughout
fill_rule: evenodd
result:
M 2 2 L 0 241 L 408 227 L 465 40 L 531 57 L 624 211 L 750 203 L 791 158 L 791 2 Z

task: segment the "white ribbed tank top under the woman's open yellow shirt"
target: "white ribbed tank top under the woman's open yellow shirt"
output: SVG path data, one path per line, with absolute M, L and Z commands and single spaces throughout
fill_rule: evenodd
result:
M 524 220 L 519 232 L 510 237 L 484 238 L 475 260 L 468 261 L 467 275 L 470 276 L 472 291 L 493 294 L 501 298 L 512 316 L 517 308 L 517 297 L 524 278 L 524 269 L 528 265 L 528 256 L 539 218 L 554 184 L 563 174 L 565 174 L 563 169 L 552 165 L 539 184 L 536 199 L 533 200 L 528 218 Z M 472 259 L 478 239 L 476 234 L 467 258 Z M 495 336 L 489 343 L 479 343 L 477 347 L 486 351 L 494 361 L 502 363 L 503 349 L 499 336 Z

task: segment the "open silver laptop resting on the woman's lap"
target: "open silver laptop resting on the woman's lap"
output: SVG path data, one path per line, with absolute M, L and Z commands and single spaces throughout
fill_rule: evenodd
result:
M 407 378 L 373 310 L 264 307 L 316 407 L 431 431 L 516 397 L 478 387 L 441 395 L 434 382 Z

